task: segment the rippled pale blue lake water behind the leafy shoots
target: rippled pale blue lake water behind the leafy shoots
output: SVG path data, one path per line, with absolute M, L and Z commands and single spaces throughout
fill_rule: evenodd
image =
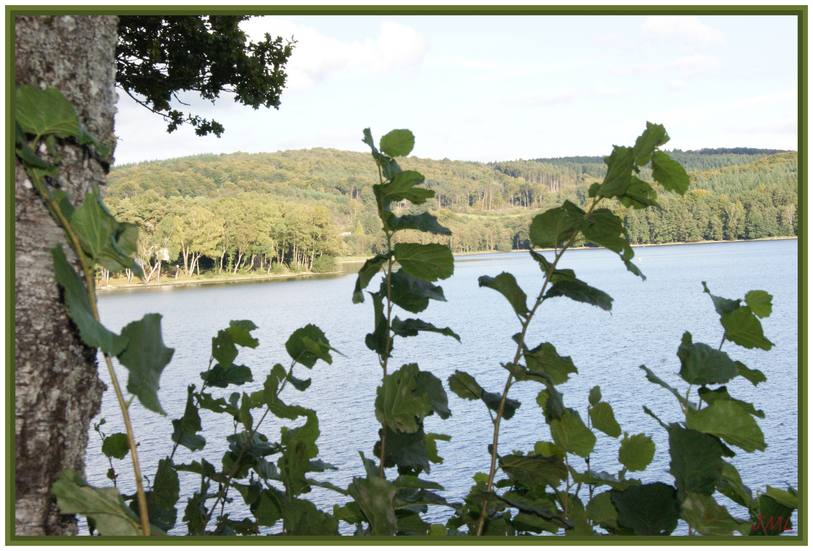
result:
M 728 384 L 729 392 L 741 400 L 753 402 L 765 411 L 759 419 L 765 433 L 765 452 L 745 453 L 737 449 L 737 457 L 729 461 L 737 466 L 743 482 L 752 490 L 765 484 L 784 488 L 785 482 L 794 487 L 798 481 L 798 266 L 797 241 L 750 241 L 698 245 L 636 247 L 635 260 L 647 279 L 641 281 L 626 271 L 617 255 L 606 249 L 576 249 L 568 251 L 559 267 L 576 271 L 576 276 L 602 289 L 615 299 L 611 313 L 593 306 L 559 297 L 546 301 L 537 311 L 528 330 L 526 342 L 535 346 L 552 343 L 559 354 L 570 356 L 579 370 L 571 380 L 559 386 L 565 405 L 580 411 L 585 418 L 589 389 L 601 386 L 603 399 L 615 410 L 622 430 L 632 434 L 646 432 L 655 445 L 654 462 L 644 473 L 635 473 L 643 482 L 661 480 L 673 483 L 667 473 L 669 454 L 667 434 L 658 423 L 646 415 L 641 406 L 648 406 L 664 422 L 683 419 L 674 397 L 663 388 L 650 384 L 638 368 L 646 364 L 667 383 L 685 392 L 687 385 L 677 375 L 680 361 L 676 349 L 684 331 L 692 333 L 694 341 L 706 342 L 715 348 L 722 337 L 719 316 L 708 295 L 702 292 L 706 281 L 711 293 L 721 297 L 739 298 L 751 289 L 764 289 L 773 295 L 773 313 L 763 319 L 765 336 L 776 346 L 766 352 L 747 350 L 726 343 L 723 350 L 746 366 L 760 369 L 767 382 L 754 388 L 738 377 Z M 551 258 L 552 255 L 548 254 Z M 355 267 L 358 269 L 358 266 Z M 492 439 L 489 414 L 481 402 L 463 401 L 448 391 L 446 379 L 459 369 L 474 375 L 487 391 L 502 392 L 506 371 L 500 362 L 510 362 L 515 353 L 511 335 L 520 324 L 502 295 L 491 289 L 479 288 L 480 275 L 498 275 L 510 271 L 529 297 L 539 293 L 542 278 L 536 262 L 527 253 L 478 254 L 455 258 L 454 275 L 439 282 L 448 302 L 430 301 L 420 315 L 399 313 L 403 318 L 420 317 L 437 327 L 449 326 L 458 333 L 461 342 L 433 333 L 395 341 L 390 366 L 418 362 L 424 371 L 432 371 L 443 380 L 449 395 L 452 417 L 447 420 L 432 415 L 425 420 L 426 432 L 452 435 L 450 442 L 438 442 L 438 453 L 445 461 L 433 465 L 424 478 L 439 482 L 441 492 L 450 501 L 460 501 L 471 488 L 472 475 L 488 472 L 490 456 L 486 446 Z M 377 289 L 378 278 L 369 289 Z M 313 383 L 306 392 L 286 388 L 282 399 L 286 403 L 306 406 L 317 411 L 320 422 L 319 458 L 339 467 L 338 471 L 311 473 L 313 478 L 327 480 L 346 488 L 353 476 L 363 476 L 359 450 L 372 457 L 372 447 L 378 440 L 373 403 L 376 386 L 380 383 L 380 367 L 376 355 L 363 344 L 367 332 L 372 332 L 372 302 L 350 301 L 355 283 L 354 273 L 319 275 L 298 280 L 267 280 L 264 282 L 234 282 L 228 284 L 185 285 L 157 289 L 117 289 L 100 293 L 99 312 L 111 330 L 118 331 L 142 315 L 159 312 L 163 315 L 163 341 L 175 349 L 172 362 L 163 371 L 159 399 L 166 418 L 145 410 L 133 401 L 136 440 L 141 443 L 141 470 L 154 473 L 158 461 L 172 451 L 172 419 L 180 419 L 186 401 L 187 384 L 200 388 L 199 373 L 206 371 L 211 354 L 211 337 L 228 327 L 229 320 L 250 319 L 258 329 L 257 349 L 240 349 L 237 363 L 244 363 L 254 372 L 254 383 L 239 388 L 215 388 L 215 397 L 234 390 L 250 393 L 262 388 L 270 368 L 280 362 L 289 365 L 285 341 L 293 330 L 315 323 L 328 336 L 330 344 L 345 354 L 333 355 L 333 365 L 318 362 L 309 371 L 298 366 L 294 375 L 311 377 Z M 100 357 L 100 364 L 103 361 Z M 108 387 L 107 369 L 100 369 Z M 125 386 L 127 372 L 117 367 Z M 509 397 L 522 402 L 515 416 L 503 421 L 500 432 L 500 453 L 511 450 L 533 450 L 537 440 L 551 440 L 550 432 L 536 404 L 539 384 L 515 384 Z M 696 394 L 695 394 L 696 398 Z M 259 412 L 259 410 L 255 410 Z M 254 413 L 254 419 L 259 419 Z M 107 419 L 102 430 L 108 435 L 124 432 L 120 411 L 112 390 L 105 393 L 102 413 Z M 96 419 L 98 421 L 98 418 Z M 220 467 L 220 458 L 227 449 L 225 436 L 232 434 L 233 425 L 226 415 L 201 410 L 203 433 L 207 446 L 191 453 L 179 447 L 175 462 L 189 463 L 204 457 Z M 260 429 L 269 440 L 279 439 L 279 427 L 301 424 L 268 418 Z M 597 432 L 596 449 L 591 466 L 596 471 L 619 471 L 618 442 Z M 109 486 L 106 478 L 109 464 L 99 453 L 101 439 L 90 431 L 86 476 L 89 484 Z M 274 456 L 276 460 L 277 456 Z M 113 460 L 120 473 L 119 488 L 133 492 L 130 458 Z M 584 470 L 580 458 L 574 466 Z M 185 508 L 183 496 L 191 496 L 199 487 L 198 475 L 180 473 L 181 500 L 178 505 L 178 525 L 171 534 L 184 534 L 180 523 Z M 639 476 L 640 475 L 640 476 Z M 150 476 L 151 478 L 151 476 Z M 498 475 L 498 478 L 502 476 Z M 604 488 L 606 489 L 606 488 Z M 602 490 L 599 490 L 602 491 Z M 586 492 L 583 492 L 586 493 Z M 335 492 L 314 488 L 306 496 L 321 510 L 332 512 L 333 503 L 347 500 Z M 746 510 L 717 494 L 721 505 L 735 516 L 747 518 Z M 211 501 L 210 501 L 211 504 Z M 226 510 L 232 518 L 243 518 L 246 507 L 239 496 Z M 451 510 L 430 506 L 427 518 L 445 522 Z M 681 521 L 682 523 L 682 521 Z M 82 521 L 82 531 L 87 528 Z M 795 534 L 796 517 L 793 517 Z M 265 533 L 271 531 L 263 529 Z M 341 523 L 341 531 L 352 528 Z M 279 531 L 277 528 L 276 531 Z M 685 524 L 675 534 L 685 534 Z

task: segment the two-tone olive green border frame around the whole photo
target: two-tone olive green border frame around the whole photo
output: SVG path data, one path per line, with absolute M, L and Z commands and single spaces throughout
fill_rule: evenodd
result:
M 14 148 L 14 97 L 15 97 L 15 15 L 796 15 L 798 17 L 798 536 L 768 536 L 748 538 L 744 536 L 669 536 L 648 539 L 646 537 L 574 536 L 540 540 L 540 536 L 277 536 L 274 540 L 247 538 L 246 536 L 155 536 L 145 541 L 123 536 L 15 536 L 15 373 L 6 370 L 6 544 L 7 545 L 180 545 L 195 544 L 285 544 L 285 545 L 528 545 L 555 544 L 580 545 L 806 545 L 807 544 L 807 11 L 806 5 L 785 6 L 233 6 L 233 7 L 165 7 L 165 6 L 6 6 L 6 176 L 7 182 L 15 179 Z M 6 365 L 15 362 L 14 328 L 15 316 L 11 304 L 15 299 L 15 285 L 8 277 L 15 268 L 15 190 L 6 189 Z

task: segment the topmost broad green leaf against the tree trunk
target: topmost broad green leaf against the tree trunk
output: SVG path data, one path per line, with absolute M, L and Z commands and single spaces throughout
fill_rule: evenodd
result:
M 20 86 L 15 95 L 15 119 L 20 128 L 34 136 L 79 136 L 76 110 L 55 88 Z

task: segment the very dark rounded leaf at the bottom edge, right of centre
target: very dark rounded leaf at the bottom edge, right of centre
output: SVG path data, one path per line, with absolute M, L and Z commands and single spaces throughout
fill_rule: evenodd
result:
M 680 504 L 674 487 L 655 482 L 610 490 L 618 510 L 617 523 L 631 528 L 636 536 L 668 536 L 677 527 Z

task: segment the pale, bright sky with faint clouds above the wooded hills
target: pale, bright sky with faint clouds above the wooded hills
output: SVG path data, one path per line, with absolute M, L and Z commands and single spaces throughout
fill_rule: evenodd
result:
M 167 124 L 119 91 L 117 164 L 201 153 L 366 151 L 393 128 L 422 158 L 609 154 L 646 121 L 665 149 L 798 148 L 797 21 L 781 15 L 294 15 L 242 24 L 293 37 L 278 111 L 181 93 L 220 138 Z

